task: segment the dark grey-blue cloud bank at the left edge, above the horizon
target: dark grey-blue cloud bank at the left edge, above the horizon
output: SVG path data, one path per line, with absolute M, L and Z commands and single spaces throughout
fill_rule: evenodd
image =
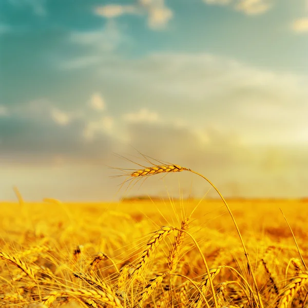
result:
M 10 117 L 0 121 L 0 160 L 52 163 L 55 157 L 62 157 L 65 161 L 90 163 L 92 160 L 100 161 L 107 155 L 107 145 L 113 142 L 108 137 L 112 118 L 102 119 L 100 133 L 89 144 L 83 133 L 88 123 L 94 120 L 78 117 L 78 110 L 63 112 L 47 103 L 34 112 L 35 109 L 31 108 L 34 105 L 27 104 L 20 110 L 12 109 Z

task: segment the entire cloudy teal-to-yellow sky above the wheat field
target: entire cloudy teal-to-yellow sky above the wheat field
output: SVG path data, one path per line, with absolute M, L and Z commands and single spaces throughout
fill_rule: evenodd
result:
M 2 0 L 0 200 L 207 193 L 121 188 L 139 152 L 225 197 L 307 196 L 307 54 L 307 0 Z

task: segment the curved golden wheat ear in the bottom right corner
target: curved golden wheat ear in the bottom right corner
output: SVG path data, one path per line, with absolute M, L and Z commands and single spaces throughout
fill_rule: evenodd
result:
M 296 293 L 308 282 L 308 272 L 300 273 L 283 288 L 276 303 L 276 308 L 287 308 Z

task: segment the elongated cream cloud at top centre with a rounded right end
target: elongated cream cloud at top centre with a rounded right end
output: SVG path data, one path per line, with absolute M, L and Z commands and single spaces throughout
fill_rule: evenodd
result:
M 153 30 L 164 29 L 173 17 L 173 12 L 164 0 L 139 0 L 136 5 L 112 4 L 96 7 L 95 14 L 115 18 L 124 14 L 147 15 L 148 26 Z

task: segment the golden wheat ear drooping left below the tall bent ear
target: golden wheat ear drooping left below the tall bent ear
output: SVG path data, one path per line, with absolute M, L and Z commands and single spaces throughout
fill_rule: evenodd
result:
M 143 253 L 141 254 L 139 261 L 136 264 L 134 271 L 132 272 L 132 275 L 131 275 L 132 279 L 137 278 L 140 275 L 140 273 L 142 272 L 142 269 L 145 267 L 145 265 L 149 261 L 150 257 L 155 252 L 156 248 L 164 240 L 164 238 L 166 236 L 168 236 L 173 230 L 174 230 L 174 228 L 172 228 L 172 227 L 162 226 L 149 239 L 149 241 L 146 244 L 146 248 L 144 249 Z

